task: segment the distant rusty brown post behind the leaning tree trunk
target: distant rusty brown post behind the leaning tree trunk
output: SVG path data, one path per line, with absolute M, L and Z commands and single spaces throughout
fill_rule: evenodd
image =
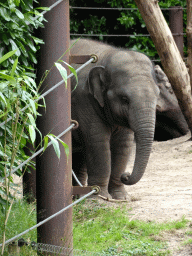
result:
M 180 51 L 181 57 L 183 58 L 183 8 L 181 6 L 174 6 L 171 8 L 169 10 L 169 27 L 173 34 L 178 34 L 173 37 Z

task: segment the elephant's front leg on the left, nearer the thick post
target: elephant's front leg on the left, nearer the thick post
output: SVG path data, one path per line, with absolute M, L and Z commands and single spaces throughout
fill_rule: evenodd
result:
M 98 185 L 100 195 L 111 198 L 108 184 L 111 174 L 110 129 L 102 123 L 90 125 L 86 133 L 88 185 Z

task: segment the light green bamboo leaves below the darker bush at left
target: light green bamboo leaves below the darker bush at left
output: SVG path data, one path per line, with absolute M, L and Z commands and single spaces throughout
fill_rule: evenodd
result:
M 8 52 L 0 58 L 1 65 L 14 57 L 18 50 Z M 10 172 L 28 156 L 24 152 L 27 141 L 34 143 L 35 118 L 38 104 L 34 100 L 39 97 L 35 81 L 24 74 L 17 74 L 19 58 L 12 67 L 0 71 L 0 207 L 5 210 L 7 197 L 11 199 L 9 190 L 12 178 Z M 28 106 L 25 111 L 22 108 Z M 12 120 L 8 121 L 9 118 Z M 32 163 L 31 163 L 32 164 Z M 16 172 L 19 176 L 21 170 Z M 8 177 L 6 183 L 5 177 Z M 7 187 L 8 185 L 8 187 Z

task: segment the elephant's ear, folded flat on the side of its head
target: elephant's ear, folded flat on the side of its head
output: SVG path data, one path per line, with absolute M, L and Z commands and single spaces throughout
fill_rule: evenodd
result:
M 104 73 L 105 67 L 97 66 L 90 70 L 88 77 L 89 93 L 93 95 L 101 107 L 104 107 Z

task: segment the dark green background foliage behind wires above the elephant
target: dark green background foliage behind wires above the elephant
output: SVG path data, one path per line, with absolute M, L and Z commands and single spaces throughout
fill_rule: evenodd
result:
M 186 8 L 186 0 L 159 1 L 161 8 L 172 6 L 182 6 Z M 71 6 L 80 7 L 114 7 L 114 8 L 137 8 L 134 0 L 108 0 L 108 1 L 88 1 L 71 0 Z M 163 15 L 169 23 L 169 10 L 162 10 Z M 112 17 L 112 18 L 111 18 Z M 186 27 L 186 10 L 184 10 L 184 32 Z M 146 25 L 138 10 L 71 10 L 71 33 L 79 34 L 118 34 L 133 35 L 131 37 L 90 37 L 92 39 L 104 40 L 116 46 L 126 47 L 132 50 L 147 54 L 152 59 L 159 59 L 155 46 L 148 36 L 138 36 L 149 34 Z M 87 38 L 87 37 L 86 37 Z M 184 52 L 186 50 L 186 37 L 184 42 Z

